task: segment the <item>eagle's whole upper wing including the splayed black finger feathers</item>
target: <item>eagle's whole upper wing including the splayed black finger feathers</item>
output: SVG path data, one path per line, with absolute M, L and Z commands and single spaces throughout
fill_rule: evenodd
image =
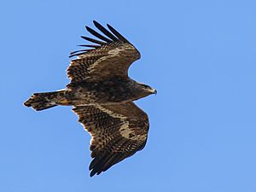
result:
M 128 78 L 128 68 L 133 61 L 140 58 L 140 53 L 129 43 L 119 32 L 108 26 L 110 32 L 101 24 L 93 21 L 98 28 L 108 38 L 86 26 L 88 32 L 100 40 L 82 36 L 93 45 L 80 45 L 92 49 L 82 49 L 71 53 L 70 57 L 77 56 L 70 62 L 67 68 L 67 75 L 72 83 L 81 81 L 100 81 L 112 77 Z

